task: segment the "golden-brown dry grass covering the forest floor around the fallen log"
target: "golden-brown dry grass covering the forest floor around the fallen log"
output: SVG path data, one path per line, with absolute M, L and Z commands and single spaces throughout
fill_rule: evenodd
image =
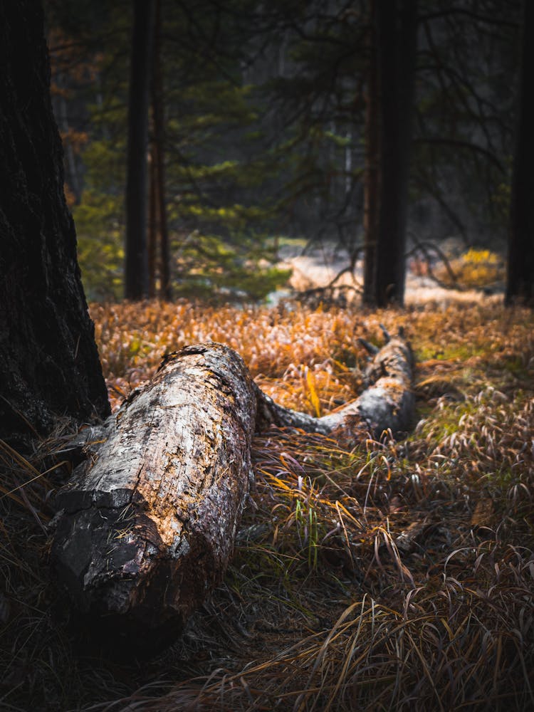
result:
M 382 323 L 417 359 L 418 422 L 355 449 L 273 429 L 224 582 L 154 659 L 85 647 L 48 574 L 56 439 L 0 451 L 1 710 L 534 708 L 534 314 L 496 298 L 207 308 L 93 305 L 113 407 L 167 350 L 226 342 L 281 404 L 361 387 Z M 26 486 L 20 487 L 21 483 Z

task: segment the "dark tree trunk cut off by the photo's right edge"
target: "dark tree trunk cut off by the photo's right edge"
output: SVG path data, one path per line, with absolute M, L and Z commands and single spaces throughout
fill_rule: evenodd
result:
M 513 161 L 506 304 L 534 305 L 534 4 L 523 1 L 523 43 L 518 97 L 518 125 Z

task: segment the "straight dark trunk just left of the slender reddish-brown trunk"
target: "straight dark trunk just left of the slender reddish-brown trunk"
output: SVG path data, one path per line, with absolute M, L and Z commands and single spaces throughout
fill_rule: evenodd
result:
M 148 295 L 147 147 L 154 11 L 152 0 L 134 0 L 133 8 L 128 102 L 125 297 L 140 300 Z

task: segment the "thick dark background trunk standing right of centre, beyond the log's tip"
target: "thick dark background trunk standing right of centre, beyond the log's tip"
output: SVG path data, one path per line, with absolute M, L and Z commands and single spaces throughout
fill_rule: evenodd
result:
M 409 157 L 417 51 L 417 0 L 376 0 L 378 77 L 378 225 L 367 303 L 402 305 L 406 273 Z M 373 127 L 375 130 L 375 127 Z M 370 239 L 372 241 L 372 239 Z

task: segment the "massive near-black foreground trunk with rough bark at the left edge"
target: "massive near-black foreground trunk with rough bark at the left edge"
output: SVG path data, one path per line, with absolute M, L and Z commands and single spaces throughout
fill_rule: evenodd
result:
M 0 438 L 109 412 L 37 2 L 0 3 Z

